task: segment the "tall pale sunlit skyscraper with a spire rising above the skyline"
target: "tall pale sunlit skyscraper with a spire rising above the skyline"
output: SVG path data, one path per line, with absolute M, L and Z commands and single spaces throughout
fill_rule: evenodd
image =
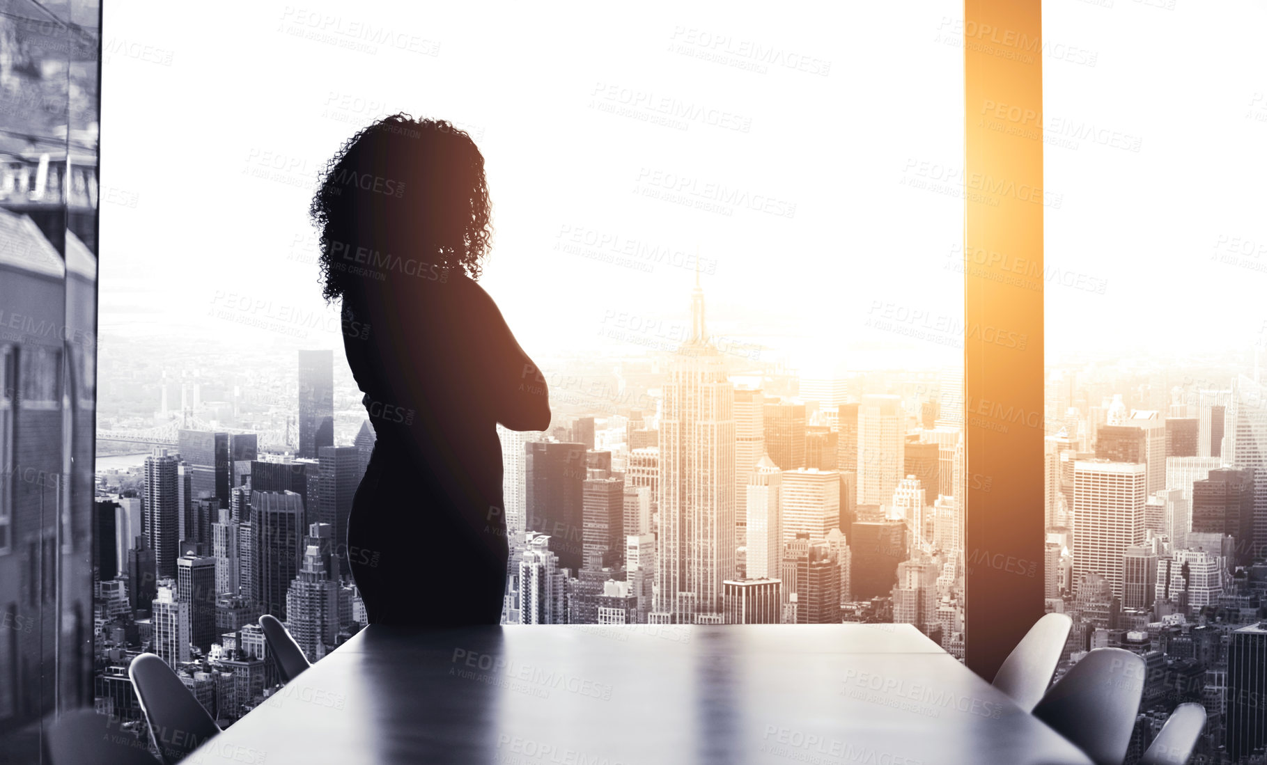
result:
M 655 621 L 721 623 L 735 575 L 735 389 L 708 342 L 698 274 L 663 400 Z

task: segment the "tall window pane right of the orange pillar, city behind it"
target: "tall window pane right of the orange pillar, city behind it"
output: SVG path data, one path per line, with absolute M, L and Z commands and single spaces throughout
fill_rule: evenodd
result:
M 1068 664 L 1149 667 L 1134 751 L 1182 702 L 1199 752 L 1263 746 L 1264 51 L 1252 3 L 1059 3 L 1044 35 L 1047 597 Z M 1182 42 L 1181 42 L 1182 41 Z M 1257 685 L 1247 685 L 1257 683 Z M 1219 750 L 1225 747 L 1225 754 Z M 1218 759 L 1218 760 L 1215 760 Z

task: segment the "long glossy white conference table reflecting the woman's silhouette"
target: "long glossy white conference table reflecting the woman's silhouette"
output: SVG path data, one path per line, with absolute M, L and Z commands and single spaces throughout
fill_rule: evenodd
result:
M 189 761 L 1091 760 L 910 624 L 372 624 Z

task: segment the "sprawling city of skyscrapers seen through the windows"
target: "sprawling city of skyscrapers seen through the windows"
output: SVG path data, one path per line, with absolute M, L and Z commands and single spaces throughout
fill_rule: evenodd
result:
M 1024 561 L 964 547 L 967 488 L 991 477 L 964 467 L 960 370 L 763 364 L 759 343 L 710 336 L 698 281 L 684 327 L 606 372 L 546 374 L 549 431 L 498 427 L 504 624 L 906 623 L 962 660 L 965 569 L 993 566 L 1041 576 L 1047 610 L 1074 619 L 1058 676 L 1097 647 L 1145 659 L 1129 761 L 1190 700 L 1209 713 L 1204 761 L 1261 760 L 1257 352 L 1182 374 L 1049 367 L 1044 560 Z M 348 561 L 375 551 L 346 524 L 374 429 L 334 355 L 291 351 L 270 379 L 243 366 L 250 386 L 103 355 L 98 448 L 132 451 L 98 462 L 99 711 L 143 724 L 125 667 L 150 651 L 231 724 L 280 690 L 260 614 L 310 661 L 365 626 Z M 153 412 L 122 415 L 111 389 Z

